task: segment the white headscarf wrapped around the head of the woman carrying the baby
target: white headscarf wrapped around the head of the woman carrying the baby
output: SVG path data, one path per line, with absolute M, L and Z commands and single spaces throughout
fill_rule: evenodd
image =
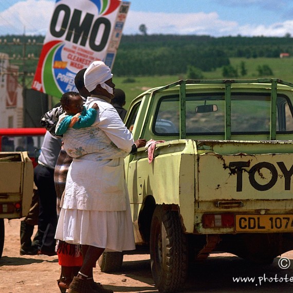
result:
M 90 92 L 100 84 L 109 94 L 113 94 L 113 88 L 105 84 L 112 77 L 111 69 L 103 61 L 94 61 L 84 72 L 84 86 Z

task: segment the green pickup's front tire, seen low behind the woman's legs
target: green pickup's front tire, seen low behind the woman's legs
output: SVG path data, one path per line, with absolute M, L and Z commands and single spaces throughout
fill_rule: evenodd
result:
M 98 260 L 102 272 L 120 271 L 123 263 L 123 252 L 103 252 Z

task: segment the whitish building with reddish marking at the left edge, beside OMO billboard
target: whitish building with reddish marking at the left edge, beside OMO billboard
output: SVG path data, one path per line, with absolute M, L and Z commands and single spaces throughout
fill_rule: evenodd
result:
M 23 87 L 18 82 L 19 67 L 9 64 L 0 53 L 0 128 L 23 127 Z

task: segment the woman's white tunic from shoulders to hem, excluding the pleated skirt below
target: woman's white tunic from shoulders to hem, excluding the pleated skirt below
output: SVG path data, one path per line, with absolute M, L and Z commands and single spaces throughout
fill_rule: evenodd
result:
M 134 143 L 116 109 L 97 97 L 88 97 L 86 107 L 99 106 L 93 125 L 63 136 L 64 148 L 74 157 L 67 174 L 62 208 L 124 211 L 128 196 L 124 160 Z

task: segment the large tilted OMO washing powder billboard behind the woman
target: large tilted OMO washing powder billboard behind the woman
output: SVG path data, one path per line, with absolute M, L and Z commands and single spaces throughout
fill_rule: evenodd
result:
M 95 60 L 113 66 L 130 2 L 56 0 L 32 88 L 61 97 Z

